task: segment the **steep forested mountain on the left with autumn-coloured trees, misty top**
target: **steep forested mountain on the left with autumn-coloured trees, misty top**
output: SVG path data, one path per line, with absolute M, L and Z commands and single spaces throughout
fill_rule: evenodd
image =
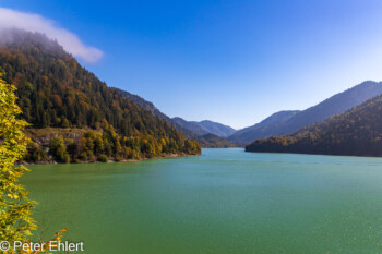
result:
M 201 152 L 198 142 L 109 88 L 56 41 L 21 31 L 2 35 L 3 80 L 17 87 L 22 117 L 33 129 L 43 129 L 28 159 L 139 159 Z M 81 131 L 63 134 L 69 130 Z

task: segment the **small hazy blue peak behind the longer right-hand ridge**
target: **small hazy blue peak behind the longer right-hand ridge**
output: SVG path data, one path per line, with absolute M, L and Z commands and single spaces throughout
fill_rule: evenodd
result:
M 290 110 L 276 112 L 253 126 L 237 131 L 234 135 L 230 135 L 228 140 L 237 145 L 246 145 L 249 143 L 248 141 L 271 136 L 280 128 L 282 124 L 298 112 L 300 111 Z

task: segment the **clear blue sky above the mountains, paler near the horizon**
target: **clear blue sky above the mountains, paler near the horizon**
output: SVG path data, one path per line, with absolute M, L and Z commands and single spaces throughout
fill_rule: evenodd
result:
M 382 1 L 0 0 L 103 51 L 80 61 L 170 117 L 252 125 L 382 80 Z

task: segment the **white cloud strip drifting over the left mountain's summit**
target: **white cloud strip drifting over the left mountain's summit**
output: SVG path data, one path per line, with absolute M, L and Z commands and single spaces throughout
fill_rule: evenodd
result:
M 87 62 L 96 62 L 104 55 L 99 49 L 84 45 L 75 34 L 57 27 L 53 21 L 38 14 L 0 8 L 0 29 L 4 28 L 21 28 L 45 34 L 51 39 L 57 39 L 65 51 Z

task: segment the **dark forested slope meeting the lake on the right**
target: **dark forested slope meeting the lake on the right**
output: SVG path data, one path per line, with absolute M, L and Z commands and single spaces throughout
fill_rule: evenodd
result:
M 258 140 L 246 150 L 382 156 L 382 96 L 287 136 Z

